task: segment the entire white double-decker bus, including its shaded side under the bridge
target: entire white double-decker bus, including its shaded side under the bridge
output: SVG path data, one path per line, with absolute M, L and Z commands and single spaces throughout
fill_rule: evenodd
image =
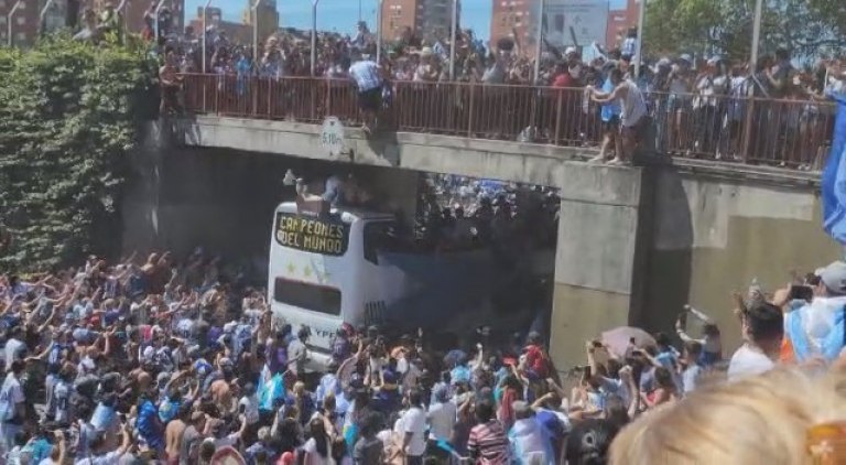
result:
M 491 313 L 490 298 L 502 282 L 490 251 L 421 253 L 397 237 L 395 226 L 392 215 L 327 209 L 319 199 L 276 207 L 268 301 L 295 332 L 311 328 L 312 363 L 325 366 L 345 322 L 455 335 L 494 321 L 510 331 L 524 323 L 517 309 Z M 545 256 L 550 263 L 542 268 L 550 272 L 554 255 Z

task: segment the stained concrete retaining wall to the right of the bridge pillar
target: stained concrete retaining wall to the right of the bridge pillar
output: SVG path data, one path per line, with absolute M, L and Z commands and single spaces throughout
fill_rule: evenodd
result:
M 815 183 L 803 180 L 691 172 L 651 173 L 654 221 L 640 323 L 672 332 L 684 304 L 713 316 L 727 347 L 740 343 L 731 292 L 758 279 L 766 292 L 837 260 L 822 230 Z

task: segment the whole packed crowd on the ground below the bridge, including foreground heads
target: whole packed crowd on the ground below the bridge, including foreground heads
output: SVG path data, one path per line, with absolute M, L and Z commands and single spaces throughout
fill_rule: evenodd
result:
M 196 251 L 0 277 L 4 463 L 787 464 L 805 432 L 846 440 L 823 428 L 846 414 L 845 262 L 736 295 L 737 327 L 686 307 L 675 336 L 610 329 L 570 371 L 534 332 L 437 347 L 348 324 L 313 367 L 310 329 L 221 270 Z

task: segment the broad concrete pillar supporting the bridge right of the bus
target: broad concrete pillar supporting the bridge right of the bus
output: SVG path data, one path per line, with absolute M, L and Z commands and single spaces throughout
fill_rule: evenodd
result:
M 566 370 L 585 363 L 586 340 L 637 313 L 646 218 L 641 169 L 567 163 L 561 176 L 550 353 Z

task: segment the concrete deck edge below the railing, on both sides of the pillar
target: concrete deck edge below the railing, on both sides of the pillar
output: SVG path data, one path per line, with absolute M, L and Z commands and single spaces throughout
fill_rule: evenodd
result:
M 597 186 L 596 166 L 579 170 L 594 148 L 567 148 L 513 141 L 491 141 L 442 134 L 397 132 L 368 139 L 358 128 L 347 128 L 352 159 L 333 159 L 318 144 L 319 125 L 197 115 L 176 121 L 176 139 L 188 145 L 279 153 L 310 159 L 354 162 L 409 170 L 525 182 L 550 186 Z M 576 163 L 566 163 L 576 162 Z M 820 173 L 713 160 L 647 155 L 646 165 L 676 170 L 683 174 L 739 182 L 753 181 L 782 187 L 818 187 Z M 619 170 L 619 169 L 618 169 Z M 623 169 L 625 170 L 625 169 Z M 632 174 L 634 175 L 634 174 Z M 594 177 L 590 180 L 590 177 Z M 619 187 L 608 197 L 606 190 L 574 190 L 585 202 L 632 203 L 636 192 Z M 625 195 L 622 193 L 626 193 Z M 599 198 L 594 198 L 600 195 Z M 575 197 L 574 197 L 575 199 Z M 627 201 L 630 199 L 630 201 Z

